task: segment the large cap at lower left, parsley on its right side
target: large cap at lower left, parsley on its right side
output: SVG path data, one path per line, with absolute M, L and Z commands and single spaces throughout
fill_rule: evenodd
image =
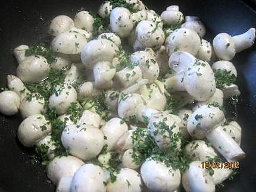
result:
M 18 140 L 25 147 L 33 147 L 38 141 L 51 133 L 51 125 L 43 115 L 31 115 L 24 119 L 18 127 Z

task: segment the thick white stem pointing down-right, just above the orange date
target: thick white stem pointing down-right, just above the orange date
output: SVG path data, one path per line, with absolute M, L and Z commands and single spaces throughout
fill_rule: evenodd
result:
M 238 143 L 230 137 L 223 127 L 219 126 L 209 133 L 205 134 L 208 141 L 213 143 L 215 149 L 229 161 L 238 161 L 245 157 L 245 152 L 241 149 Z

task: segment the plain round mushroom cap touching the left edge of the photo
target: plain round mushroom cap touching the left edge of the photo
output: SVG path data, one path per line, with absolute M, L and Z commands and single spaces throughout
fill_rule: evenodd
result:
M 20 97 L 13 91 L 0 93 L 0 112 L 4 115 L 17 114 L 20 108 Z

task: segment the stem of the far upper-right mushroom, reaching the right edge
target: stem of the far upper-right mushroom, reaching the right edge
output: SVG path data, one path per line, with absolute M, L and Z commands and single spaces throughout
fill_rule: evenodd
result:
M 243 34 L 233 36 L 233 40 L 236 46 L 236 52 L 250 48 L 254 44 L 255 28 L 251 28 Z

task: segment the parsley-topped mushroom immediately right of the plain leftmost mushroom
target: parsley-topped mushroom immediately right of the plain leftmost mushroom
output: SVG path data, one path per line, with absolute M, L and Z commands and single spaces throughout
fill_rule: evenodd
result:
M 23 119 L 45 111 L 45 99 L 39 93 L 27 95 L 20 103 L 20 114 Z

